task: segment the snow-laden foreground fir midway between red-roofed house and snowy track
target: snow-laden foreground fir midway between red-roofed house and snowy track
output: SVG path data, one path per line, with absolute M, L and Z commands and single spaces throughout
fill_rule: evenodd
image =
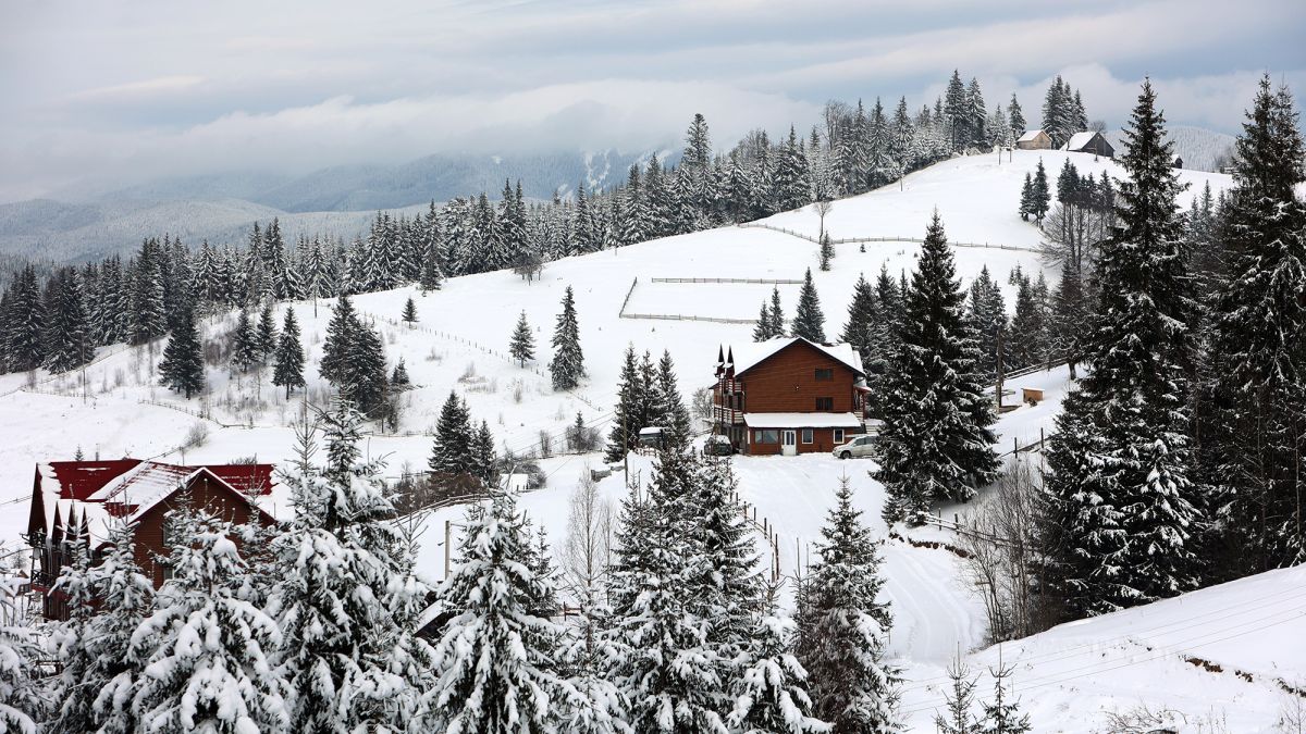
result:
M 438 599 L 454 613 L 435 645 L 431 731 L 551 733 L 575 690 L 558 674 L 559 630 L 530 613 L 546 580 L 524 563 L 530 538 L 512 492 L 468 513 L 457 569 Z

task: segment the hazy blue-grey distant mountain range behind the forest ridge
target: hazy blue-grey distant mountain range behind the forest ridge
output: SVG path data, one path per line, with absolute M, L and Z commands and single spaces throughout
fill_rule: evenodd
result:
M 424 209 L 486 191 L 498 199 L 504 179 L 521 180 L 530 199 L 573 195 L 576 185 L 607 188 L 626 180 L 627 154 L 438 154 L 397 166 L 337 166 L 303 176 L 242 171 L 159 179 L 123 188 L 80 187 L 0 204 L 0 253 L 85 260 L 140 246 L 165 232 L 197 244 L 243 240 L 253 222 L 281 219 L 287 239 L 299 234 L 351 238 L 376 210 Z M 660 154 L 662 154 L 660 152 Z

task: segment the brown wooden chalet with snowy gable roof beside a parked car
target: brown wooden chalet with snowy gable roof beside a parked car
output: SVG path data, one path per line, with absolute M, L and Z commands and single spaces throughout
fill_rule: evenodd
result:
M 866 372 L 846 343 L 774 338 L 717 354 L 717 435 L 751 455 L 829 452 L 866 426 Z

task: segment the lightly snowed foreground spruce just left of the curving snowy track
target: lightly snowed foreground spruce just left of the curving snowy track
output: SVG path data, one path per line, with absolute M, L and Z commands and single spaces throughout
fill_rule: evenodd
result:
M 884 584 L 879 552 L 846 478 L 836 498 L 819 560 L 798 589 L 795 656 L 808 674 L 815 716 L 835 731 L 895 731 L 899 671 L 884 662 L 892 618 L 875 601 Z

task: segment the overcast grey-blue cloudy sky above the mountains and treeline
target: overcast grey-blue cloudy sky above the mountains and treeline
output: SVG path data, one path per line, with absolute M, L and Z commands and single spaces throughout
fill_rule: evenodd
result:
M 1173 123 L 1237 132 L 1269 71 L 1306 94 L 1306 3 L 1153 0 L 185 3 L 0 0 L 0 201 L 85 179 L 307 172 L 436 152 L 718 146 L 953 68 L 990 110 L 1047 80 L 1118 125 L 1144 74 Z

